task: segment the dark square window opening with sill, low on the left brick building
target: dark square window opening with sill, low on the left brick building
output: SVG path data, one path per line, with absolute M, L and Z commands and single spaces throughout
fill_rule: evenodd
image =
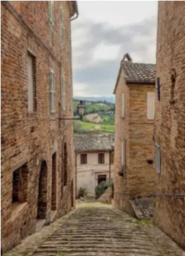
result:
M 27 201 L 28 168 L 24 164 L 13 172 L 12 203 L 24 203 Z

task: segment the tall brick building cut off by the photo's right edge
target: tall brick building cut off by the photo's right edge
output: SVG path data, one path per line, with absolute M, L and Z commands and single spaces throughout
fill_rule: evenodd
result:
M 163 197 L 156 199 L 154 223 L 185 247 L 184 1 L 158 3 L 156 71 L 156 188 Z

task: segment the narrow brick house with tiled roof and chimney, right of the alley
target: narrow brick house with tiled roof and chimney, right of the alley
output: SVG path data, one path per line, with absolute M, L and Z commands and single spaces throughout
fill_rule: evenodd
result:
M 126 199 L 154 193 L 154 64 L 133 63 L 126 53 L 114 88 L 114 205 L 127 210 Z M 120 176 L 122 175 L 122 176 Z

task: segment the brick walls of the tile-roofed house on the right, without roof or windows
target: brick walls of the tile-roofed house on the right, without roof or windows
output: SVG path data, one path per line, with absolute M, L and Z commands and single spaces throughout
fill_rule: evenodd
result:
M 154 92 L 154 85 L 126 85 L 123 71 L 116 88 L 116 129 L 114 150 L 114 205 L 125 209 L 129 197 L 150 195 L 155 191 L 156 172 L 153 164 L 153 124 L 147 120 L 147 92 Z M 125 95 L 125 116 L 122 118 L 122 94 Z M 121 167 L 121 142 L 126 141 L 126 169 L 119 176 Z

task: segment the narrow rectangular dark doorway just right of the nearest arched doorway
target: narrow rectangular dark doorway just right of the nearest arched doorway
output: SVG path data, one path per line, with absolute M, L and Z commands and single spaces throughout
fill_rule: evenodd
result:
M 57 153 L 52 156 L 52 197 L 51 211 L 57 210 Z

